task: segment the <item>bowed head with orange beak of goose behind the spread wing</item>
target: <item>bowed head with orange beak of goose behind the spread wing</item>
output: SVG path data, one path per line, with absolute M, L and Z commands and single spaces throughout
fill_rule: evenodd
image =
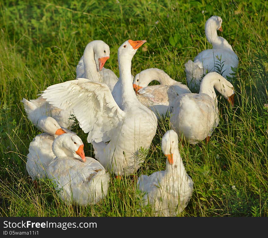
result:
M 105 62 L 110 58 L 110 47 L 102 40 L 93 40 L 87 44 L 84 54 L 87 53 L 90 48 L 93 48 L 98 71 L 101 71 Z

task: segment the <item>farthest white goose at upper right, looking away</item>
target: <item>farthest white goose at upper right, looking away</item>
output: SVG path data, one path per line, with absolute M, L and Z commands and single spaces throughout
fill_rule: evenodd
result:
M 188 87 L 192 92 L 199 92 L 200 82 L 206 72 L 217 72 L 223 77 L 233 77 L 235 73 L 231 67 L 238 67 L 238 56 L 234 53 L 232 46 L 226 39 L 217 35 L 217 30 L 222 32 L 222 19 L 219 16 L 210 17 L 205 24 L 206 39 L 212 44 L 213 49 L 200 52 L 194 59 L 185 63 L 185 73 Z M 217 59 L 218 57 L 218 59 Z M 221 59 L 221 60 L 219 60 Z M 224 63 L 221 72 L 221 64 Z

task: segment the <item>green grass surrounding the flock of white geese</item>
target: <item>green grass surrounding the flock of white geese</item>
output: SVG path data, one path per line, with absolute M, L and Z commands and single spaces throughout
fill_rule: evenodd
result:
M 25 169 L 30 141 L 40 132 L 20 100 L 34 99 L 49 85 L 75 79 L 86 44 L 108 43 L 105 67 L 118 75 L 117 49 L 127 39 L 146 39 L 132 60 L 133 75 L 163 69 L 186 83 L 184 63 L 203 49 L 204 24 L 223 19 L 223 36 L 238 54 L 233 80 L 235 107 L 219 99 L 220 123 L 208 144 L 179 144 L 194 181 L 193 196 L 180 216 L 268 215 L 268 35 L 266 1 L 4 1 L 0 2 L 0 214 L 1 216 L 152 216 L 139 210 L 136 181 L 111 175 L 108 196 L 93 206 L 66 206 L 49 180 L 37 188 Z M 164 170 L 160 139 L 168 118 L 158 123 L 137 175 Z M 86 141 L 79 127 L 75 132 Z M 85 153 L 94 157 L 91 144 Z

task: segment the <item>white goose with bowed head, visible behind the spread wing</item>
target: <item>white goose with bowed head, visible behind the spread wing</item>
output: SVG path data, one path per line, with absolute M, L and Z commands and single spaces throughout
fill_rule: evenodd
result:
M 112 70 L 104 68 L 109 58 L 110 47 L 106 43 L 102 40 L 91 41 L 76 66 L 76 78 L 106 83 L 112 91 L 118 78 Z

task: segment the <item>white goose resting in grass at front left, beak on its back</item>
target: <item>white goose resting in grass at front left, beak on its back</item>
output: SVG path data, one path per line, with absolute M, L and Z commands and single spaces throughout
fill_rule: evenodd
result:
M 85 157 L 83 148 L 82 140 L 70 133 L 58 136 L 52 144 L 55 158 L 47 174 L 67 205 L 95 204 L 107 196 L 110 176 L 97 160 Z

